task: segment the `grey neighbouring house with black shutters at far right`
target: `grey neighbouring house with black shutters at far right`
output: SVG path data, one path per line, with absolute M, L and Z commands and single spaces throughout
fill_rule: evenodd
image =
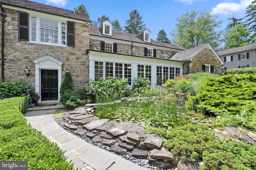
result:
M 256 43 L 217 52 L 224 61 L 222 72 L 232 68 L 256 67 Z

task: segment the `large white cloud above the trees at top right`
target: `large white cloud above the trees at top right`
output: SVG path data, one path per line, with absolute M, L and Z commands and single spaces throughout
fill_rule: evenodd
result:
M 222 2 L 216 7 L 212 8 L 212 12 L 214 14 L 224 14 L 226 16 L 232 15 L 234 12 L 244 12 L 244 10 L 246 10 L 246 6 L 252 4 L 253 0 L 240 0 L 239 3 L 235 3 L 230 0 L 225 1 L 226 2 Z

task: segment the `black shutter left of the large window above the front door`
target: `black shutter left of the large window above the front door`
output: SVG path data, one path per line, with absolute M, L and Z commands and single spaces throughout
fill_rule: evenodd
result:
M 18 40 L 29 41 L 29 14 L 18 12 Z

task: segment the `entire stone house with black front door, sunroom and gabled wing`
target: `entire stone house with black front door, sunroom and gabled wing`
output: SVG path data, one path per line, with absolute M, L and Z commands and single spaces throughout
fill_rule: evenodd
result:
M 222 62 L 210 44 L 185 50 L 154 41 L 148 29 L 134 35 L 112 30 L 110 21 L 89 26 L 90 18 L 80 12 L 28 0 L 0 3 L 1 78 L 28 81 L 42 94 L 40 100 L 60 99 L 66 70 L 72 74 L 75 89 L 86 88 L 89 79 L 108 76 L 127 78 L 130 87 L 133 78 L 148 77 L 154 88 L 187 73 L 188 65 L 189 72 L 202 71 L 202 64 L 203 70 L 212 72 L 209 67 L 214 66 L 214 72 L 221 71 Z M 26 67 L 29 76 L 24 73 Z

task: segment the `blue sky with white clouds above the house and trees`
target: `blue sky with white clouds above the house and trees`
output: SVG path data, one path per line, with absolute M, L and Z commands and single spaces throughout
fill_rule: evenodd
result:
M 161 29 L 172 40 L 170 32 L 175 29 L 176 18 L 186 12 L 212 10 L 218 20 L 223 20 L 225 29 L 233 16 L 237 19 L 246 16 L 246 6 L 253 0 L 31 0 L 41 4 L 56 6 L 67 10 L 74 10 L 84 4 L 90 15 L 90 20 L 96 20 L 102 15 L 108 16 L 110 21 L 118 20 L 122 27 L 130 19 L 129 13 L 137 10 L 142 16 L 143 24 L 151 31 L 151 39 L 156 40 Z M 245 21 L 245 20 L 244 20 Z

